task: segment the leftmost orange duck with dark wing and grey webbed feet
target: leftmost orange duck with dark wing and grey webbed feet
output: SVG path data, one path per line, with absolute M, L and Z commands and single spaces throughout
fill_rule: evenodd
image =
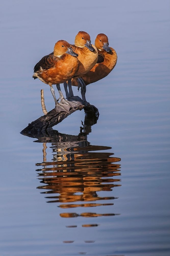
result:
M 78 54 L 73 52 L 70 44 L 65 40 L 59 40 L 54 45 L 53 53 L 44 56 L 34 67 L 34 79 L 39 79 L 50 86 L 55 101 L 57 112 L 69 112 L 72 104 L 67 101 L 60 88 L 60 84 L 71 79 L 79 70 Z M 56 100 L 55 91 L 52 87 L 56 84 L 60 95 L 60 102 Z

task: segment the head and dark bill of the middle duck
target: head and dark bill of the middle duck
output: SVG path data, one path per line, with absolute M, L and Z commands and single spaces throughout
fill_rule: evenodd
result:
M 91 52 L 95 52 L 95 48 L 91 45 L 90 36 L 87 32 L 79 31 L 75 37 L 75 46 L 87 47 Z

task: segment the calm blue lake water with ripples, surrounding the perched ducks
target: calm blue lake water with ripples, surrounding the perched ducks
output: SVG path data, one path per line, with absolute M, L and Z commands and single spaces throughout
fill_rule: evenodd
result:
M 0 17 L 0 255 L 169 256 L 170 2 L 7 0 Z M 54 108 L 34 65 L 80 30 L 118 55 L 87 86 L 98 120 L 20 134 L 43 115 L 40 89 Z

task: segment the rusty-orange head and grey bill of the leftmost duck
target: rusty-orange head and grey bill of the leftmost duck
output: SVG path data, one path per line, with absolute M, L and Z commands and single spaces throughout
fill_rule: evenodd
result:
M 71 49 L 70 44 L 65 41 L 65 40 L 59 40 L 58 42 L 56 42 L 56 44 L 54 45 L 54 56 L 56 57 L 61 57 L 63 56 L 65 53 L 70 54 L 74 57 L 77 57 L 78 54 L 74 53 L 73 50 Z

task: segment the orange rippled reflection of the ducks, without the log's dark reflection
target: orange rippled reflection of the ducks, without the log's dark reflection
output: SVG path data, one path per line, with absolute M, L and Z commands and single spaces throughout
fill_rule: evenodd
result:
M 50 199 L 48 202 L 59 202 L 61 203 L 60 208 L 96 207 L 112 204 L 97 203 L 100 200 L 115 199 L 114 197 L 98 196 L 97 191 L 111 191 L 113 187 L 120 186 L 120 184 L 113 184 L 113 182 L 120 182 L 120 179 L 116 177 L 120 175 L 118 173 L 120 165 L 113 163 L 120 161 L 120 158 L 111 157 L 112 153 L 91 152 L 106 150 L 109 147 L 89 145 L 86 140 L 80 142 L 58 141 L 52 144 L 51 148 L 55 153 L 52 162 L 36 164 L 43 166 L 43 169 L 38 170 L 38 175 L 41 183 L 46 184 L 38 188 L 48 190 L 43 192 L 45 194 L 59 194 L 47 196 L 46 198 Z M 77 216 L 80 215 L 76 213 L 61 214 L 61 217 Z M 82 213 L 81 216 L 96 217 L 99 215 Z

